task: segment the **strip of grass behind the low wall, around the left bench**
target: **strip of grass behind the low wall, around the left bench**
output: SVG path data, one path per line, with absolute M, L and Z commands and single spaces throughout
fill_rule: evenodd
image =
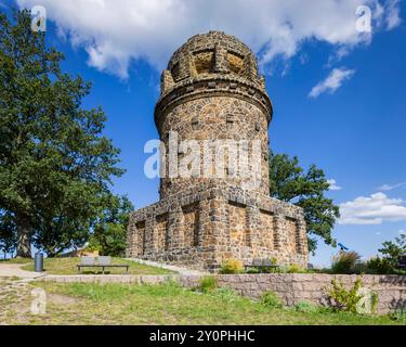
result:
M 10 262 L 10 264 L 25 264 L 22 267 L 23 270 L 34 271 L 34 259 L 10 259 L 10 260 L 2 260 L 1 264 Z M 49 274 L 77 274 L 77 265 L 80 264 L 80 258 L 45 258 L 43 262 L 43 268 Z M 142 264 L 137 264 L 131 260 L 125 260 L 120 258 L 113 258 L 112 264 L 128 264 L 129 273 L 131 274 L 168 274 L 173 273 L 172 271 L 155 268 Z M 101 268 L 91 268 L 91 269 L 83 269 L 83 273 L 102 273 Z M 110 268 L 105 269 L 105 273 L 125 273 L 125 268 Z

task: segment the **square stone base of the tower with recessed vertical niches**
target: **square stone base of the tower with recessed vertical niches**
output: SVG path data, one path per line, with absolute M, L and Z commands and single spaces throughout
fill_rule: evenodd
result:
M 279 265 L 307 265 L 302 209 L 231 187 L 202 184 L 135 211 L 128 239 L 127 257 L 196 269 L 274 257 Z

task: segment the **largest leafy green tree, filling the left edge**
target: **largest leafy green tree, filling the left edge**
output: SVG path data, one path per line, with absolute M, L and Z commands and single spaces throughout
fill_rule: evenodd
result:
M 119 150 L 102 134 L 102 108 L 83 110 L 91 83 L 60 68 L 63 54 L 0 14 L 0 210 L 15 226 L 17 256 L 35 242 L 51 255 L 82 242 L 104 208 Z

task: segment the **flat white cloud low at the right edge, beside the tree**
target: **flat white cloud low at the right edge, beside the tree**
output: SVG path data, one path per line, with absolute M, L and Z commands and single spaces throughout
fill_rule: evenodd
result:
M 340 224 L 380 224 L 383 221 L 406 220 L 403 200 L 390 198 L 381 192 L 340 204 Z

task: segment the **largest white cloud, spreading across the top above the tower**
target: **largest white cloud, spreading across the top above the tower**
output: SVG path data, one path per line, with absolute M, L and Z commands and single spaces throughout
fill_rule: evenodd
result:
M 38 0 L 16 0 L 30 9 Z M 398 3 L 388 11 L 381 0 L 42 0 L 73 44 L 89 54 L 89 64 L 122 78 L 132 60 L 161 69 L 188 37 L 210 29 L 239 37 L 260 54 L 262 64 L 288 60 L 305 40 L 353 48 L 368 44 L 371 34 L 355 29 L 356 8 L 367 4 L 374 23 L 393 23 Z M 389 17 L 389 16 L 390 17 Z M 393 27 L 393 24 L 388 27 Z

